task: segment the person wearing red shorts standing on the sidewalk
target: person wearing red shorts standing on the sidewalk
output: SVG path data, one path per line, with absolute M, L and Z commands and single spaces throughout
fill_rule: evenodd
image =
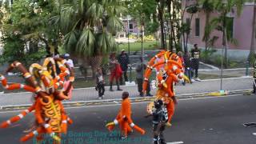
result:
M 109 66 L 110 66 L 110 91 L 114 91 L 112 88 L 114 79 L 118 86 L 117 90 L 122 90 L 120 89 L 120 86 L 118 83 L 119 78 L 122 75 L 122 68 L 118 63 L 118 60 L 115 58 L 115 53 L 110 54 Z

